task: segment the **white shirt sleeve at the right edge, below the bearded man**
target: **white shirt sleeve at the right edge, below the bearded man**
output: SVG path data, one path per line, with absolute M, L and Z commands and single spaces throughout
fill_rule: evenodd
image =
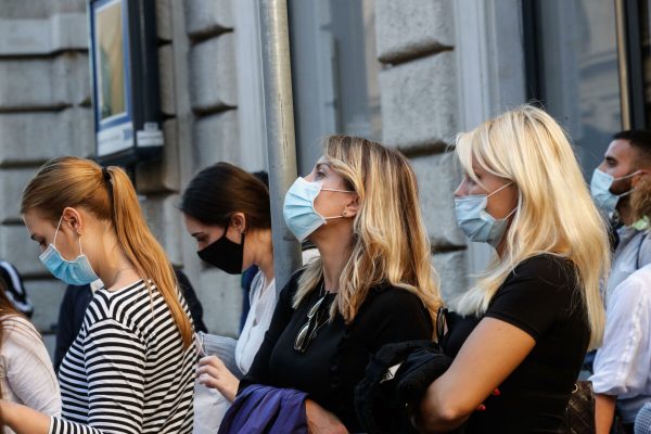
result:
M 590 378 L 595 393 L 622 398 L 643 394 L 651 370 L 649 290 L 648 281 L 633 275 L 613 292 Z

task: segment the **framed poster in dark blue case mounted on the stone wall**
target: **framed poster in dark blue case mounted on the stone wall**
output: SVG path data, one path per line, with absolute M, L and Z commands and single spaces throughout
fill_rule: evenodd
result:
M 130 165 L 159 157 L 155 2 L 89 0 L 97 157 Z

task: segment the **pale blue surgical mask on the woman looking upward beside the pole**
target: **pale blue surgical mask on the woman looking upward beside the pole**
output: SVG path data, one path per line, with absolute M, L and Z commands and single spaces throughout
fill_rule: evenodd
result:
M 321 191 L 355 193 L 348 190 L 324 189 L 322 182 L 309 182 L 298 177 L 285 194 L 282 213 L 285 224 L 294 237 L 303 242 L 314 231 L 326 225 L 327 220 L 342 216 L 323 217 L 315 209 L 315 200 Z

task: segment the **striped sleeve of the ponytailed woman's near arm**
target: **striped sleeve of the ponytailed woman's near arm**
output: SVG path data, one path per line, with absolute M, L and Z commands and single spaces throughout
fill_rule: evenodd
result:
M 88 425 L 52 418 L 49 434 L 140 434 L 144 411 L 145 345 L 129 328 L 103 319 L 87 331 Z

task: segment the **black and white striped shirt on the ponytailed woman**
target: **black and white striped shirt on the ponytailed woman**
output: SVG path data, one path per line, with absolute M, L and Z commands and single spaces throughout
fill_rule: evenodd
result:
M 61 363 L 50 434 L 191 433 L 196 358 L 157 290 L 99 290 Z

